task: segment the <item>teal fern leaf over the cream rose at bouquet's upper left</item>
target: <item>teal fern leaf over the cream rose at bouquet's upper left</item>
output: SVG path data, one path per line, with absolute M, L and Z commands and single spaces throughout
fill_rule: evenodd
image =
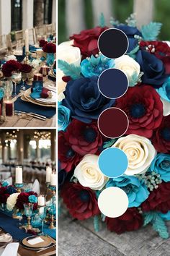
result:
M 68 62 L 58 59 L 58 69 L 61 69 L 63 73 L 76 80 L 81 77 L 81 67 L 76 67 L 74 64 L 68 64 Z

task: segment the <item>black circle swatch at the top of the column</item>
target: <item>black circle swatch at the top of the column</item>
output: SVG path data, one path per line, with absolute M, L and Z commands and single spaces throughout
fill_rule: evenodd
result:
M 128 50 L 128 38 L 122 30 L 109 28 L 99 36 L 99 51 L 110 59 L 116 59 Z

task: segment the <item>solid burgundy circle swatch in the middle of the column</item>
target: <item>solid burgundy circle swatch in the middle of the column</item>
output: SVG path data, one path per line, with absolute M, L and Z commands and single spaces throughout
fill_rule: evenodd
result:
M 99 131 L 111 139 L 124 135 L 128 125 L 128 116 L 120 108 L 107 108 L 98 118 Z

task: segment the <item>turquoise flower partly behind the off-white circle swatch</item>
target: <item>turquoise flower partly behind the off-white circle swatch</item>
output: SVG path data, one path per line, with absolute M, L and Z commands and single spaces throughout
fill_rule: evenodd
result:
M 135 176 L 120 176 L 116 179 L 109 179 L 106 187 L 120 187 L 128 195 L 129 208 L 138 207 L 149 195 L 144 180 L 139 180 Z

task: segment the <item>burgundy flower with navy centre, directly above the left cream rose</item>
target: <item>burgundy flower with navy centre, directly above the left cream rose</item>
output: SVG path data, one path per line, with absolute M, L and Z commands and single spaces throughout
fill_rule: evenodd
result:
M 66 140 L 79 155 L 95 154 L 103 143 L 102 135 L 94 121 L 85 124 L 76 119 L 68 125 Z

